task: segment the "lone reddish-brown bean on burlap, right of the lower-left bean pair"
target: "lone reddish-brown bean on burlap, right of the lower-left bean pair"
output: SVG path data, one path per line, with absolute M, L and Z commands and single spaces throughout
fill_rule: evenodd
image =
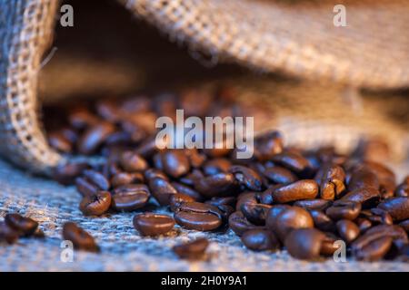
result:
M 100 251 L 98 245 L 95 243 L 94 237 L 73 222 L 66 222 L 64 224 L 63 238 L 71 241 L 76 249 L 90 252 Z

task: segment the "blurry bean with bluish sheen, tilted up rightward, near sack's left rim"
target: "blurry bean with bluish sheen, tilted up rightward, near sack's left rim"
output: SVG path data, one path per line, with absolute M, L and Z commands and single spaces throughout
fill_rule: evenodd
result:
M 79 152 L 85 155 L 95 153 L 114 131 L 115 127 L 108 122 L 99 122 L 89 127 L 78 140 Z

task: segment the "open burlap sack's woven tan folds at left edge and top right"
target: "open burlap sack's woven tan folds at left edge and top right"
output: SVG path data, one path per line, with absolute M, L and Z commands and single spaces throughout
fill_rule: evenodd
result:
M 120 3 L 155 24 L 195 57 L 235 62 L 353 87 L 409 84 L 406 1 L 171 0 Z M 335 4 L 347 26 L 335 27 Z M 37 120 L 40 61 L 50 43 L 58 1 L 0 3 L 0 132 L 2 155 L 45 173 L 61 157 Z M 302 96 L 300 96 L 302 97 Z

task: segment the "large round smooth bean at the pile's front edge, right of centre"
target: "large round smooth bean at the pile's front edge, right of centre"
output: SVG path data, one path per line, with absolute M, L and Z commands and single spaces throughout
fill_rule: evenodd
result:
M 320 257 L 325 235 L 315 228 L 294 229 L 285 237 L 284 246 L 297 259 L 314 260 Z

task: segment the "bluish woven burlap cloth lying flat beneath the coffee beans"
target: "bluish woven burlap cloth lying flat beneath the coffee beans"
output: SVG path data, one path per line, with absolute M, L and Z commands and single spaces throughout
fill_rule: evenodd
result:
M 232 232 L 201 233 L 176 226 L 169 237 L 140 237 L 132 226 L 135 213 L 85 218 L 77 208 L 80 197 L 74 188 L 28 176 L 4 160 L 0 160 L 0 185 L 0 216 L 19 212 L 35 218 L 46 235 L 44 240 L 22 238 L 13 246 L 1 245 L 0 271 L 409 271 L 409 264 L 401 262 L 310 263 L 285 251 L 255 253 Z M 69 220 L 96 238 L 100 254 L 75 252 L 74 262 L 61 261 L 61 228 Z M 191 263 L 172 252 L 175 244 L 195 237 L 211 241 L 210 261 Z

